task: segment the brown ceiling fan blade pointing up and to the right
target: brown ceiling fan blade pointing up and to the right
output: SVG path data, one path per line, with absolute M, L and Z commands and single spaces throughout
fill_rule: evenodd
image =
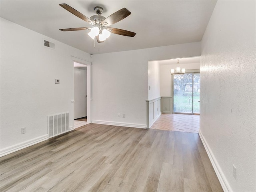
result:
M 115 24 L 118 21 L 126 18 L 130 14 L 131 14 L 131 12 L 128 11 L 128 9 L 122 8 L 119 11 L 114 12 L 112 15 L 108 16 L 101 23 L 103 24 L 103 26 L 110 26 L 110 25 Z

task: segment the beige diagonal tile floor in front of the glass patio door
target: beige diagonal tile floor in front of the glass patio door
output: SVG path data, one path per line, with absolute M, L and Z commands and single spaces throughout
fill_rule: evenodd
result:
M 199 115 L 161 114 L 151 129 L 198 133 Z

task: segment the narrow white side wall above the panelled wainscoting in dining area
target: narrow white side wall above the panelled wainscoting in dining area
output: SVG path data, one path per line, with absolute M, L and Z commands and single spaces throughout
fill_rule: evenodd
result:
M 149 89 L 150 86 L 150 89 Z M 160 65 L 157 61 L 148 62 L 148 100 L 160 97 Z

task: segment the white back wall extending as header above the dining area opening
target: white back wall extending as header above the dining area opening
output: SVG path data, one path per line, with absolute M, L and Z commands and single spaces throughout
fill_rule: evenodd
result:
M 146 127 L 148 61 L 200 54 L 200 42 L 195 42 L 94 55 L 92 121 Z

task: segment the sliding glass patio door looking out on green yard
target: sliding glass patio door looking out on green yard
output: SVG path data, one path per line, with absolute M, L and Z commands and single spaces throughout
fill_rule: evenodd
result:
M 173 75 L 173 113 L 200 114 L 200 73 Z

